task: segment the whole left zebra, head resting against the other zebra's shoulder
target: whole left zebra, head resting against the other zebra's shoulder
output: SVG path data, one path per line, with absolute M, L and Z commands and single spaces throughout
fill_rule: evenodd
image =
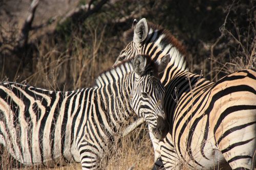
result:
M 0 143 L 25 165 L 81 162 L 82 169 L 96 169 L 104 148 L 134 112 L 163 138 L 168 124 L 156 69 L 165 66 L 138 55 L 103 72 L 94 87 L 67 92 L 3 82 Z

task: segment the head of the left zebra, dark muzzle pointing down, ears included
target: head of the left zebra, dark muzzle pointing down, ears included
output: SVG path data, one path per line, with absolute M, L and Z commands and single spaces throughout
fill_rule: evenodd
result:
M 169 56 L 165 58 L 168 59 Z M 133 60 L 135 84 L 131 90 L 130 103 L 136 114 L 147 122 L 157 139 L 163 139 L 169 130 L 162 107 L 164 86 L 156 76 L 156 72 L 163 70 L 167 63 L 166 60 L 155 63 L 142 55 L 137 55 Z

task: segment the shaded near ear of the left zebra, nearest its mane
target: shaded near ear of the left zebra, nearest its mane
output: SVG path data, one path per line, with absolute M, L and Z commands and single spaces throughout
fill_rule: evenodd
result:
M 145 72 L 145 68 L 146 68 L 146 58 L 141 55 L 135 56 L 133 59 L 134 72 L 137 75 L 142 76 Z

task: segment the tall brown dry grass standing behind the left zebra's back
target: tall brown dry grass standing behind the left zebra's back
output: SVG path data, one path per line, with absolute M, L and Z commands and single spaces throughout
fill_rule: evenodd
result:
M 111 67 L 113 61 L 109 60 L 111 46 L 106 53 L 99 49 L 104 29 L 100 34 L 93 28 L 90 31 L 90 35 L 74 33 L 67 47 L 56 44 L 53 38 L 42 38 L 37 46 L 38 55 L 32 59 L 33 67 L 25 69 L 20 77 L 29 84 L 52 90 L 92 86 L 99 72 Z

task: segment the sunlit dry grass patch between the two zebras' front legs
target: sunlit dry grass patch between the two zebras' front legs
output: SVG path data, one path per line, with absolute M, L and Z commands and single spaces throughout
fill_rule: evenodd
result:
M 108 169 L 151 169 L 154 165 L 154 151 L 147 128 L 142 127 L 121 138 L 120 146 L 116 145 L 111 155 L 110 160 L 105 160 Z

